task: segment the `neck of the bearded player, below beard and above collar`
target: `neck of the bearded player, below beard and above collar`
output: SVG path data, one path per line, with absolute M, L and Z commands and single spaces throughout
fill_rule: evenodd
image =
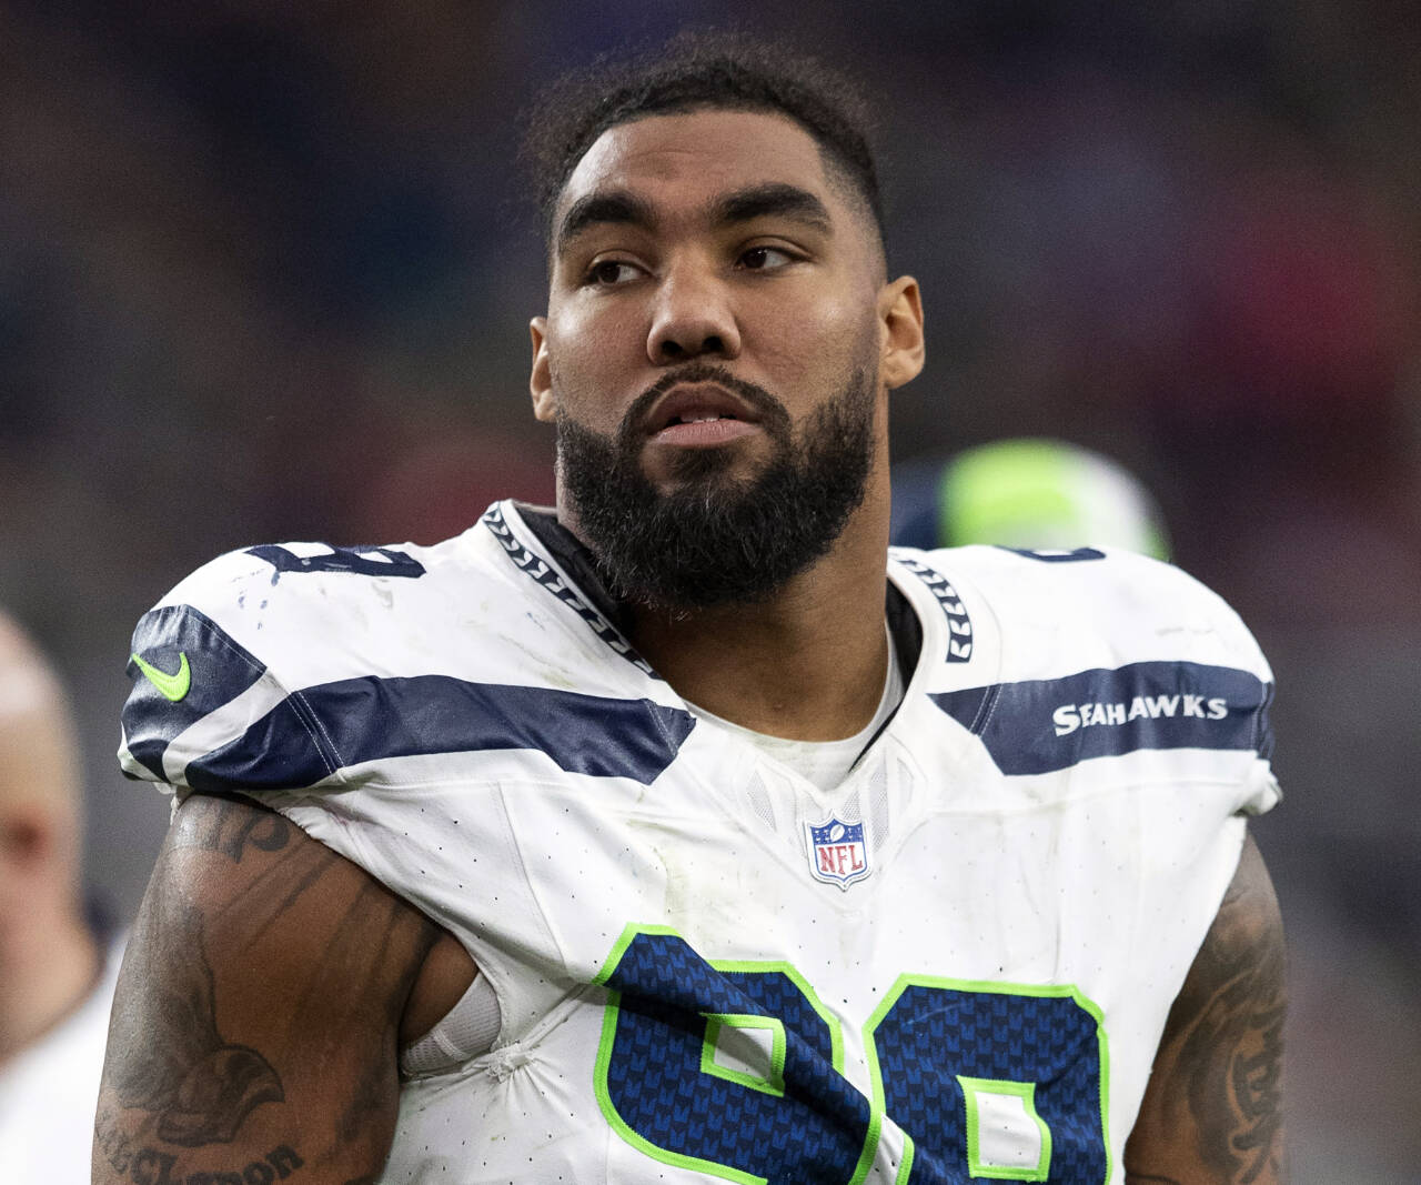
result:
M 681 696 L 736 725 L 790 740 L 853 736 L 888 675 L 887 546 L 887 513 L 870 499 L 833 550 L 769 601 L 634 610 L 631 642 Z

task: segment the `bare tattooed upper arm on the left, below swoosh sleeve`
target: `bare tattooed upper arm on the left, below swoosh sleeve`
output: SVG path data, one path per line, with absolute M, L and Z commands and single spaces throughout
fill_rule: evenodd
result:
M 192 796 L 119 973 L 94 1181 L 378 1172 L 399 1016 L 435 934 L 281 816 Z

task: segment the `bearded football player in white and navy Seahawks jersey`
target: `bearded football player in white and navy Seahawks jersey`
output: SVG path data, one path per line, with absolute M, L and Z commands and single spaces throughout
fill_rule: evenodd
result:
M 1248 631 L 1131 553 L 890 558 L 922 304 L 816 67 L 689 38 L 536 141 L 557 506 L 138 625 L 95 1181 L 1277 1181 Z

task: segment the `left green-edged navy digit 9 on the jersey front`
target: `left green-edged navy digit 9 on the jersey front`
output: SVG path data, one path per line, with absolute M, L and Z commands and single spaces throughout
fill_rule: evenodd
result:
M 679 935 L 638 931 L 600 979 L 614 996 L 597 1094 L 632 1145 L 740 1182 L 857 1175 L 871 1154 L 870 1104 L 840 1073 L 838 1032 L 793 968 L 712 965 Z M 766 1071 L 718 1064 L 728 1029 L 767 1037 Z

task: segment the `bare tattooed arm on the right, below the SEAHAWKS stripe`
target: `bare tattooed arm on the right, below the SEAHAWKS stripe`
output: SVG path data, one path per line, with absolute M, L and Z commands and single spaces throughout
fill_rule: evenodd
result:
M 1127 1185 L 1277 1185 L 1283 922 L 1252 837 L 1169 1020 L 1125 1145 Z

